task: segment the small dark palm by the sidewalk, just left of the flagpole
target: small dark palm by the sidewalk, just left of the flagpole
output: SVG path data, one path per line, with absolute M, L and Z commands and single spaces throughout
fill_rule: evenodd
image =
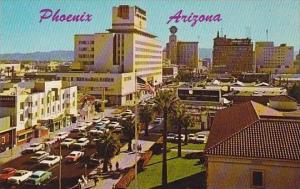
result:
M 128 117 L 125 120 L 121 121 L 121 125 L 123 126 L 123 135 L 125 136 L 127 142 L 128 142 L 128 151 L 132 152 L 132 140 L 135 137 L 135 123 L 134 119 L 131 117 Z

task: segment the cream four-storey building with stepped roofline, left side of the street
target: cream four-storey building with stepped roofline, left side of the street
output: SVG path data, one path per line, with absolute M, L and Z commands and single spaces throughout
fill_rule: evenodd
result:
M 40 130 L 54 132 L 70 125 L 77 114 L 77 87 L 62 81 L 26 81 L 0 84 L 0 117 L 10 116 L 16 143 L 40 137 Z

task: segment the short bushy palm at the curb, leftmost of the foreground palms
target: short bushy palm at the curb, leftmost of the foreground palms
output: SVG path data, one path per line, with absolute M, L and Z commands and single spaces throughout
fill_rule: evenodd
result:
M 97 141 L 97 152 L 99 157 L 103 159 L 103 172 L 107 172 L 108 163 L 120 151 L 120 146 L 119 139 L 109 132 Z

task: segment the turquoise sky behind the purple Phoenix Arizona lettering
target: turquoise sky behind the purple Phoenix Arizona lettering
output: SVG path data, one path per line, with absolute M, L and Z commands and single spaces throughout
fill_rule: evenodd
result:
M 74 34 L 93 34 L 111 28 L 112 7 L 136 5 L 147 12 L 147 30 L 165 46 L 169 28 L 178 28 L 181 41 L 198 41 L 212 48 L 217 31 L 228 38 L 251 37 L 253 42 L 286 43 L 300 48 L 300 0 L 0 0 L 0 53 L 73 50 Z M 60 14 L 92 14 L 90 22 L 40 21 L 44 8 Z M 183 14 L 221 14 L 220 22 L 167 24 L 179 10 Z

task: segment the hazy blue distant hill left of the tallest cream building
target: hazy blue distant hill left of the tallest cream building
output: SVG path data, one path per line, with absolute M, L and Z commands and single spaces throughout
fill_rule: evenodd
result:
M 0 60 L 72 61 L 73 59 L 74 59 L 73 51 L 63 51 L 63 50 L 49 51 L 49 52 L 0 54 Z

